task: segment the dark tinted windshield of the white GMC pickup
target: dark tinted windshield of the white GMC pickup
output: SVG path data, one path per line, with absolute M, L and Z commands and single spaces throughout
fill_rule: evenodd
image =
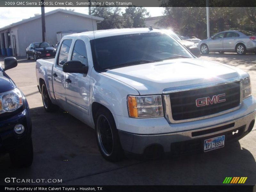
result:
M 176 40 L 160 32 L 98 38 L 91 40 L 91 47 L 96 70 L 193 57 Z

